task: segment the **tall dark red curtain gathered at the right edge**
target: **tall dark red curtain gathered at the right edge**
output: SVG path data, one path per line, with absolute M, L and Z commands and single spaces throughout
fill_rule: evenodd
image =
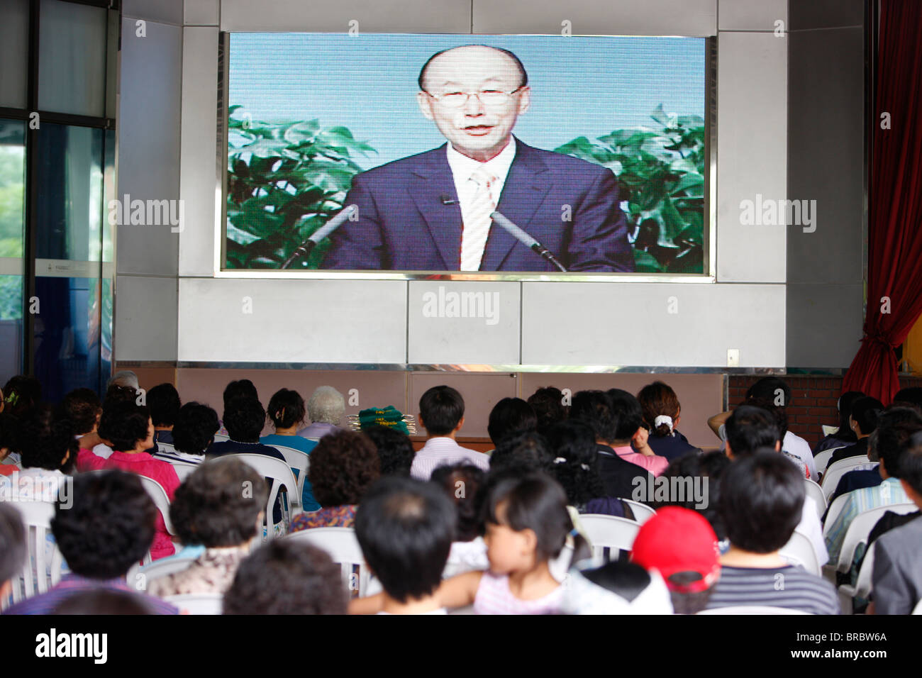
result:
M 881 0 L 879 35 L 868 311 L 843 390 L 888 404 L 900 388 L 893 349 L 922 314 L 922 2 Z M 884 113 L 889 129 L 881 129 Z

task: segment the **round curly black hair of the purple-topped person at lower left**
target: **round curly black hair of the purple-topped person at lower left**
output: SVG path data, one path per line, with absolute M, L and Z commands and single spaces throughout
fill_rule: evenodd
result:
M 157 507 L 134 473 L 78 473 L 67 501 L 58 499 L 52 533 L 74 574 L 124 577 L 148 553 Z

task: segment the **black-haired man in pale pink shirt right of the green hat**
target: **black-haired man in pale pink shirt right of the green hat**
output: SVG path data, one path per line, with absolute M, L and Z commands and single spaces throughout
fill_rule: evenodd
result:
M 428 481 L 435 467 L 459 461 L 490 469 L 490 459 L 485 454 L 455 442 L 455 436 L 464 426 L 464 398 L 454 388 L 431 387 L 422 394 L 420 426 L 426 429 L 426 444 L 413 458 L 411 477 Z

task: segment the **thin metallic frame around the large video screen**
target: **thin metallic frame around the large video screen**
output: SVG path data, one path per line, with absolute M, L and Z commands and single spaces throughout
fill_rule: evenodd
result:
M 228 179 L 228 92 L 230 78 L 230 42 L 231 33 L 248 32 L 291 32 L 310 34 L 326 31 L 226 31 L 219 33 L 218 40 L 218 182 L 215 187 L 215 246 L 214 246 L 214 277 L 215 278 L 241 278 L 241 279 L 293 279 L 293 280 L 458 280 L 458 281 L 573 281 L 573 282 L 683 282 L 683 283 L 716 283 L 716 179 L 717 179 L 717 39 L 715 36 L 705 36 L 704 40 L 704 138 L 705 157 L 707 166 L 704 168 L 704 270 L 702 273 L 548 273 L 525 271 L 438 271 L 438 270 L 285 270 L 279 268 L 227 268 L 227 179 Z M 384 32 L 384 31 L 372 31 Z M 392 33 L 388 33 L 392 34 Z M 467 33 L 434 33 L 436 35 L 464 36 Z M 509 37 L 549 37 L 536 33 L 502 34 Z M 473 36 L 472 36 L 473 37 Z M 499 36 L 502 37 L 502 36 Z M 662 38 L 695 38 L 702 39 L 700 35 L 663 35 L 663 36 L 630 36 L 630 35 L 601 35 L 585 37 L 607 38 L 632 38 L 632 37 L 662 37 Z

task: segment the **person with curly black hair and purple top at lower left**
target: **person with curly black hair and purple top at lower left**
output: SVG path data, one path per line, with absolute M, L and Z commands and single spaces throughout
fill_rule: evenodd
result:
M 157 516 L 157 507 L 135 474 L 78 474 L 68 504 L 59 501 L 52 519 L 52 533 L 70 574 L 47 593 L 18 602 L 5 614 L 48 614 L 66 598 L 87 590 L 131 592 L 125 576 L 148 553 Z M 178 613 L 154 597 L 145 600 L 156 613 Z

